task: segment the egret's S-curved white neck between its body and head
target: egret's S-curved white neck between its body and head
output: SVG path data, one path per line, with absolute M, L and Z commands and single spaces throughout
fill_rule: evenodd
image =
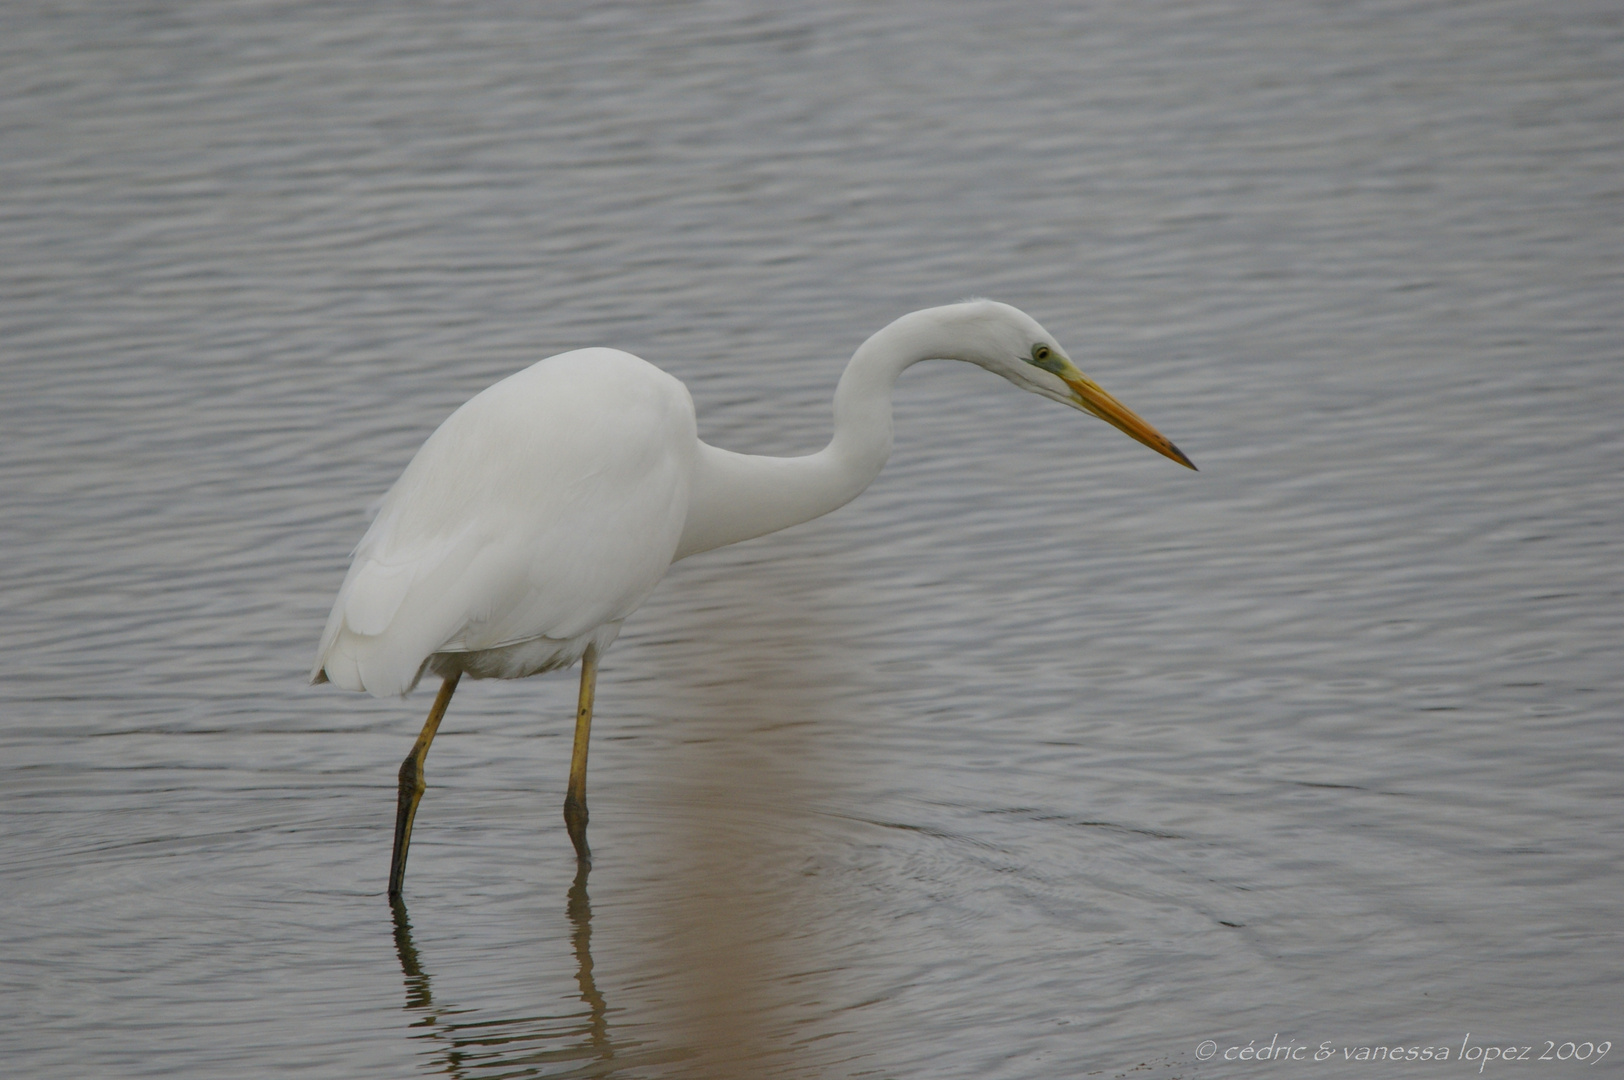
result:
M 892 456 L 892 391 L 905 369 L 952 356 L 937 312 L 903 315 L 862 343 L 835 388 L 835 437 L 817 453 L 770 458 L 700 443 L 677 559 L 801 525 L 844 507 Z

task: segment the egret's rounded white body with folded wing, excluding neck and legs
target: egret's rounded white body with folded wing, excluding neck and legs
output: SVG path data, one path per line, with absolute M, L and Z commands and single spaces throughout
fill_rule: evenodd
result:
M 564 352 L 479 393 L 385 495 L 312 677 L 404 693 L 434 653 L 625 619 L 676 554 L 697 447 L 687 388 L 614 349 Z

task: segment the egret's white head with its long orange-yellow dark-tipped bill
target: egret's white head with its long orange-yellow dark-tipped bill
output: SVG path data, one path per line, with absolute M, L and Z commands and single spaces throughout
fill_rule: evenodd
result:
M 997 300 L 968 300 L 934 310 L 953 335 L 952 359 L 970 361 L 1023 390 L 1091 413 L 1129 438 L 1187 469 L 1195 468 L 1166 435 L 1077 370 L 1054 335 L 1026 312 Z

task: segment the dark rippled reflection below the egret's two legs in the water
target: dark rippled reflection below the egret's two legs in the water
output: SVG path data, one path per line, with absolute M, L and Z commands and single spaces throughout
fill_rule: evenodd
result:
M 593 905 L 586 895 L 591 866 L 580 864 L 565 911 L 575 950 L 575 979 L 586 1013 L 573 1017 L 520 1017 L 481 1020 L 477 1010 L 437 1004 L 429 973 L 417 957 L 406 903 L 395 900 L 395 952 L 406 983 L 406 1012 L 427 1041 L 432 1072 L 448 1077 L 611 1077 L 628 1067 L 671 1061 L 671 1054 L 630 1052 L 638 1044 L 615 1048 L 609 1038 L 609 1004 L 593 981 Z M 562 1023 L 560 1023 L 562 1022 Z

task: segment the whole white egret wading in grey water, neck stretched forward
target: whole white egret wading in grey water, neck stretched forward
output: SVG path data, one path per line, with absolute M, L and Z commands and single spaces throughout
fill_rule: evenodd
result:
M 799 458 L 700 442 L 687 388 L 627 352 L 562 352 L 453 413 L 383 497 L 322 635 L 312 682 L 377 697 L 440 676 L 401 763 L 390 896 L 406 874 L 424 758 L 464 674 L 520 679 L 581 661 L 564 820 L 585 864 L 598 658 L 677 559 L 825 515 L 892 453 L 892 391 L 929 359 L 979 364 L 1091 413 L 1179 464 L 1156 429 L 1072 364 L 1030 315 L 970 300 L 903 315 L 835 390 L 835 437 Z

